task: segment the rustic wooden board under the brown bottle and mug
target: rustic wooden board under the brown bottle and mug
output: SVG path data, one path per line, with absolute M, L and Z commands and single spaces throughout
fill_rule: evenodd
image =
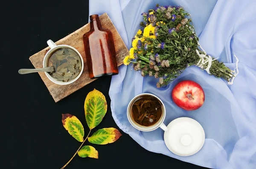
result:
M 129 55 L 129 51 L 126 48 L 125 43 L 122 41 L 122 38 L 120 37 L 115 26 L 113 25 L 110 18 L 108 17 L 108 14 L 106 13 L 102 14 L 101 16 L 99 16 L 99 20 L 101 21 L 102 28 L 109 29 L 112 32 L 115 48 L 116 48 L 117 64 L 118 66 L 122 65 L 123 59 L 125 58 L 125 56 Z M 44 84 L 47 86 L 55 102 L 60 101 L 61 99 L 74 93 L 76 90 L 79 90 L 85 85 L 89 84 L 90 82 L 93 82 L 94 80 L 96 80 L 96 79 L 89 78 L 89 73 L 88 73 L 88 68 L 87 68 L 87 63 L 86 63 L 86 58 L 84 53 L 83 35 L 88 31 L 90 31 L 90 23 L 74 31 L 72 34 L 69 34 L 67 37 L 64 37 L 63 39 L 60 39 L 57 42 L 55 42 L 56 45 L 70 45 L 76 48 L 79 51 L 79 53 L 82 55 L 84 59 L 84 70 L 76 82 L 73 82 L 70 85 L 57 85 L 52 81 L 50 81 L 44 72 L 39 73 L 39 75 L 44 81 Z M 29 57 L 29 60 L 32 62 L 35 68 L 43 68 L 44 55 L 47 53 L 47 51 L 49 51 L 49 49 L 50 48 L 47 47 L 42 51 Z

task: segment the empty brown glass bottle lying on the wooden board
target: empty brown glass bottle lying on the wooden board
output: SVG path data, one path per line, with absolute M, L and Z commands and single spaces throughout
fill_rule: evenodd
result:
M 118 74 L 113 36 L 110 30 L 102 28 L 99 15 L 90 16 L 90 31 L 83 40 L 91 79 Z

